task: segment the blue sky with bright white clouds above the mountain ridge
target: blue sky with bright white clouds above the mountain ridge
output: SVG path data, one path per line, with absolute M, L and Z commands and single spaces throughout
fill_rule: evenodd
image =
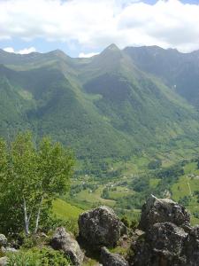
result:
M 199 50 L 199 0 L 0 0 L 0 48 L 90 57 L 111 43 Z

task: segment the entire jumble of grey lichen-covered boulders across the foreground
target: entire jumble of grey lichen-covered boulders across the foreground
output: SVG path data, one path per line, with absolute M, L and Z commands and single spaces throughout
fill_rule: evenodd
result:
M 122 239 L 130 243 L 126 255 L 112 249 Z M 0 235 L 0 246 L 8 246 L 4 235 Z M 96 207 L 80 215 L 78 239 L 59 227 L 50 246 L 62 250 L 75 266 L 85 265 L 88 250 L 98 254 L 102 264 L 97 265 L 198 266 L 199 225 L 190 225 L 185 207 L 151 195 L 142 207 L 141 220 L 134 231 L 128 231 L 110 207 Z M 0 265 L 6 265 L 5 257 Z

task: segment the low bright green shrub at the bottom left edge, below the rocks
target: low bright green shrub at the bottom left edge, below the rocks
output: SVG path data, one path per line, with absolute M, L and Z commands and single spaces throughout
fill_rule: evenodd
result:
M 43 247 L 7 254 L 8 266 L 68 266 L 64 253 Z

